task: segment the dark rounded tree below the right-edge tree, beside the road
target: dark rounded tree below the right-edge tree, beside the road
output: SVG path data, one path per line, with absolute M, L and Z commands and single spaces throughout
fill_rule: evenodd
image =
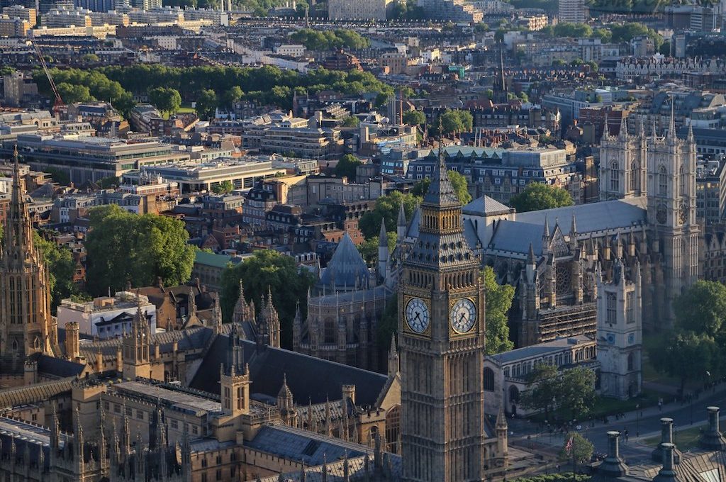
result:
M 722 354 L 713 338 L 692 331 L 672 332 L 648 350 L 651 364 L 660 373 L 680 378 L 680 393 L 686 380 L 703 380 L 706 372 L 717 372 Z

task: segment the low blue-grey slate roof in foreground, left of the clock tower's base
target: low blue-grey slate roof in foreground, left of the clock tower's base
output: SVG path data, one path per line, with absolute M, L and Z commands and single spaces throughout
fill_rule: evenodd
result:
M 287 425 L 264 425 L 245 445 L 295 462 L 305 462 L 306 465 L 322 465 L 323 456 L 330 461 L 343 459 L 346 452 L 348 457 L 365 455 L 358 444 Z

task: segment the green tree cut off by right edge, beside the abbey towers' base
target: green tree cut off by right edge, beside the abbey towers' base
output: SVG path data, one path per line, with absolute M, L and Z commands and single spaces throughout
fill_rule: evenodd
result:
M 676 326 L 711 337 L 723 336 L 726 322 L 726 286 L 697 281 L 673 301 Z

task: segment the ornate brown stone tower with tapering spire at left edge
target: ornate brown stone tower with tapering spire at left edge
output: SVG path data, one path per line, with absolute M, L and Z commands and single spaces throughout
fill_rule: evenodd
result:
M 0 259 L 0 356 L 6 367 L 19 372 L 29 355 L 60 354 L 57 325 L 50 314 L 48 272 L 33 242 L 24 190 L 16 148 Z

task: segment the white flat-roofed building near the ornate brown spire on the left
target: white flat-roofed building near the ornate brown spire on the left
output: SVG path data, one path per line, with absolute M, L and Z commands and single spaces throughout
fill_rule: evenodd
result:
M 145 314 L 151 332 L 156 330 L 156 307 L 144 295 L 120 291 L 112 296 L 95 298 L 86 303 L 62 300 L 58 306 L 58 327 L 70 322 L 78 323 L 81 335 L 102 340 L 116 338 L 131 331 L 131 323 L 139 309 Z

